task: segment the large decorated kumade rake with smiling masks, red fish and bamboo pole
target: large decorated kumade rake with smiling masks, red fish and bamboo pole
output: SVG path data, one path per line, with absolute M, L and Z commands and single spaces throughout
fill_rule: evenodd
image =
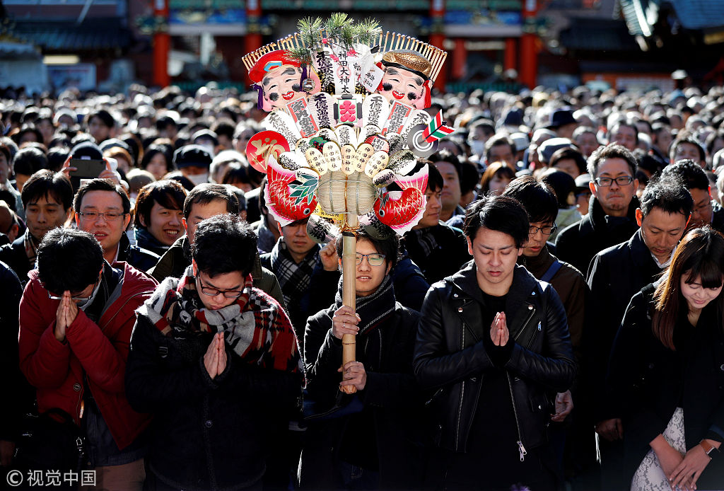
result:
M 243 57 L 270 111 L 247 157 L 266 172 L 266 205 L 282 227 L 309 218 L 319 243 L 341 230 L 342 301 L 354 309 L 355 232 L 402 235 L 424 213 L 428 167 L 418 159 L 453 131 L 424 111 L 447 53 L 346 14 L 298 27 Z M 342 345 L 342 364 L 355 360 L 355 337 Z

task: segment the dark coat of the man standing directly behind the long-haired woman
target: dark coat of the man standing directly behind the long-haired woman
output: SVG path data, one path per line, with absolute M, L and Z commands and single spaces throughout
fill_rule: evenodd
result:
M 588 284 L 584 351 L 586 381 L 594 397 L 596 422 L 611 419 L 609 400 L 602 390 L 613 339 L 621 325 L 626 306 L 641 288 L 653 282 L 662 269 L 637 230 L 631 239 L 599 252 L 593 259 Z

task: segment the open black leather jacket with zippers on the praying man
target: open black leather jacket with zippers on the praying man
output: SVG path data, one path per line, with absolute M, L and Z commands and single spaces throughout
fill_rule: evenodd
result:
M 437 445 L 466 451 L 476 414 L 482 377 L 494 367 L 484 336 L 486 309 L 476 280 L 475 262 L 437 282 L 427 293 L 415 346 L 415 374 L 423 389 L 437 389 L 431 406 Z M 519 440 L 526 449 L 544 445 L 555 393 L 571 387 L 576 376 L 571 337 L 563 303 L 549 283 L 539 282 L 522 266 L 513 272 L 506 301 L 512 353 L 508 372 Z M 502 411 L 510 411 L 507 404 Z

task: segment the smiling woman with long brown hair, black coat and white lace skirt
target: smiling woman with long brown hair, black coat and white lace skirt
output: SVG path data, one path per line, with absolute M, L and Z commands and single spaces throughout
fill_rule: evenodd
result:
M 626 310 L 607 390 L 632 491 L 723 487 L 723 282 L 724 237 L 697 228 Z

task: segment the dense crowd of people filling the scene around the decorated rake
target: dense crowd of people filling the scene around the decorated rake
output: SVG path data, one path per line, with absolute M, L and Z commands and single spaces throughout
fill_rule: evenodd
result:
M 0 101 L 2 469 L 139 491 L 724 489 L 724 88 L 429 111 L 456 131 L 416 226 L 358 232 L 353 309 L 342 240 L 266 207 L 256 94 Z

